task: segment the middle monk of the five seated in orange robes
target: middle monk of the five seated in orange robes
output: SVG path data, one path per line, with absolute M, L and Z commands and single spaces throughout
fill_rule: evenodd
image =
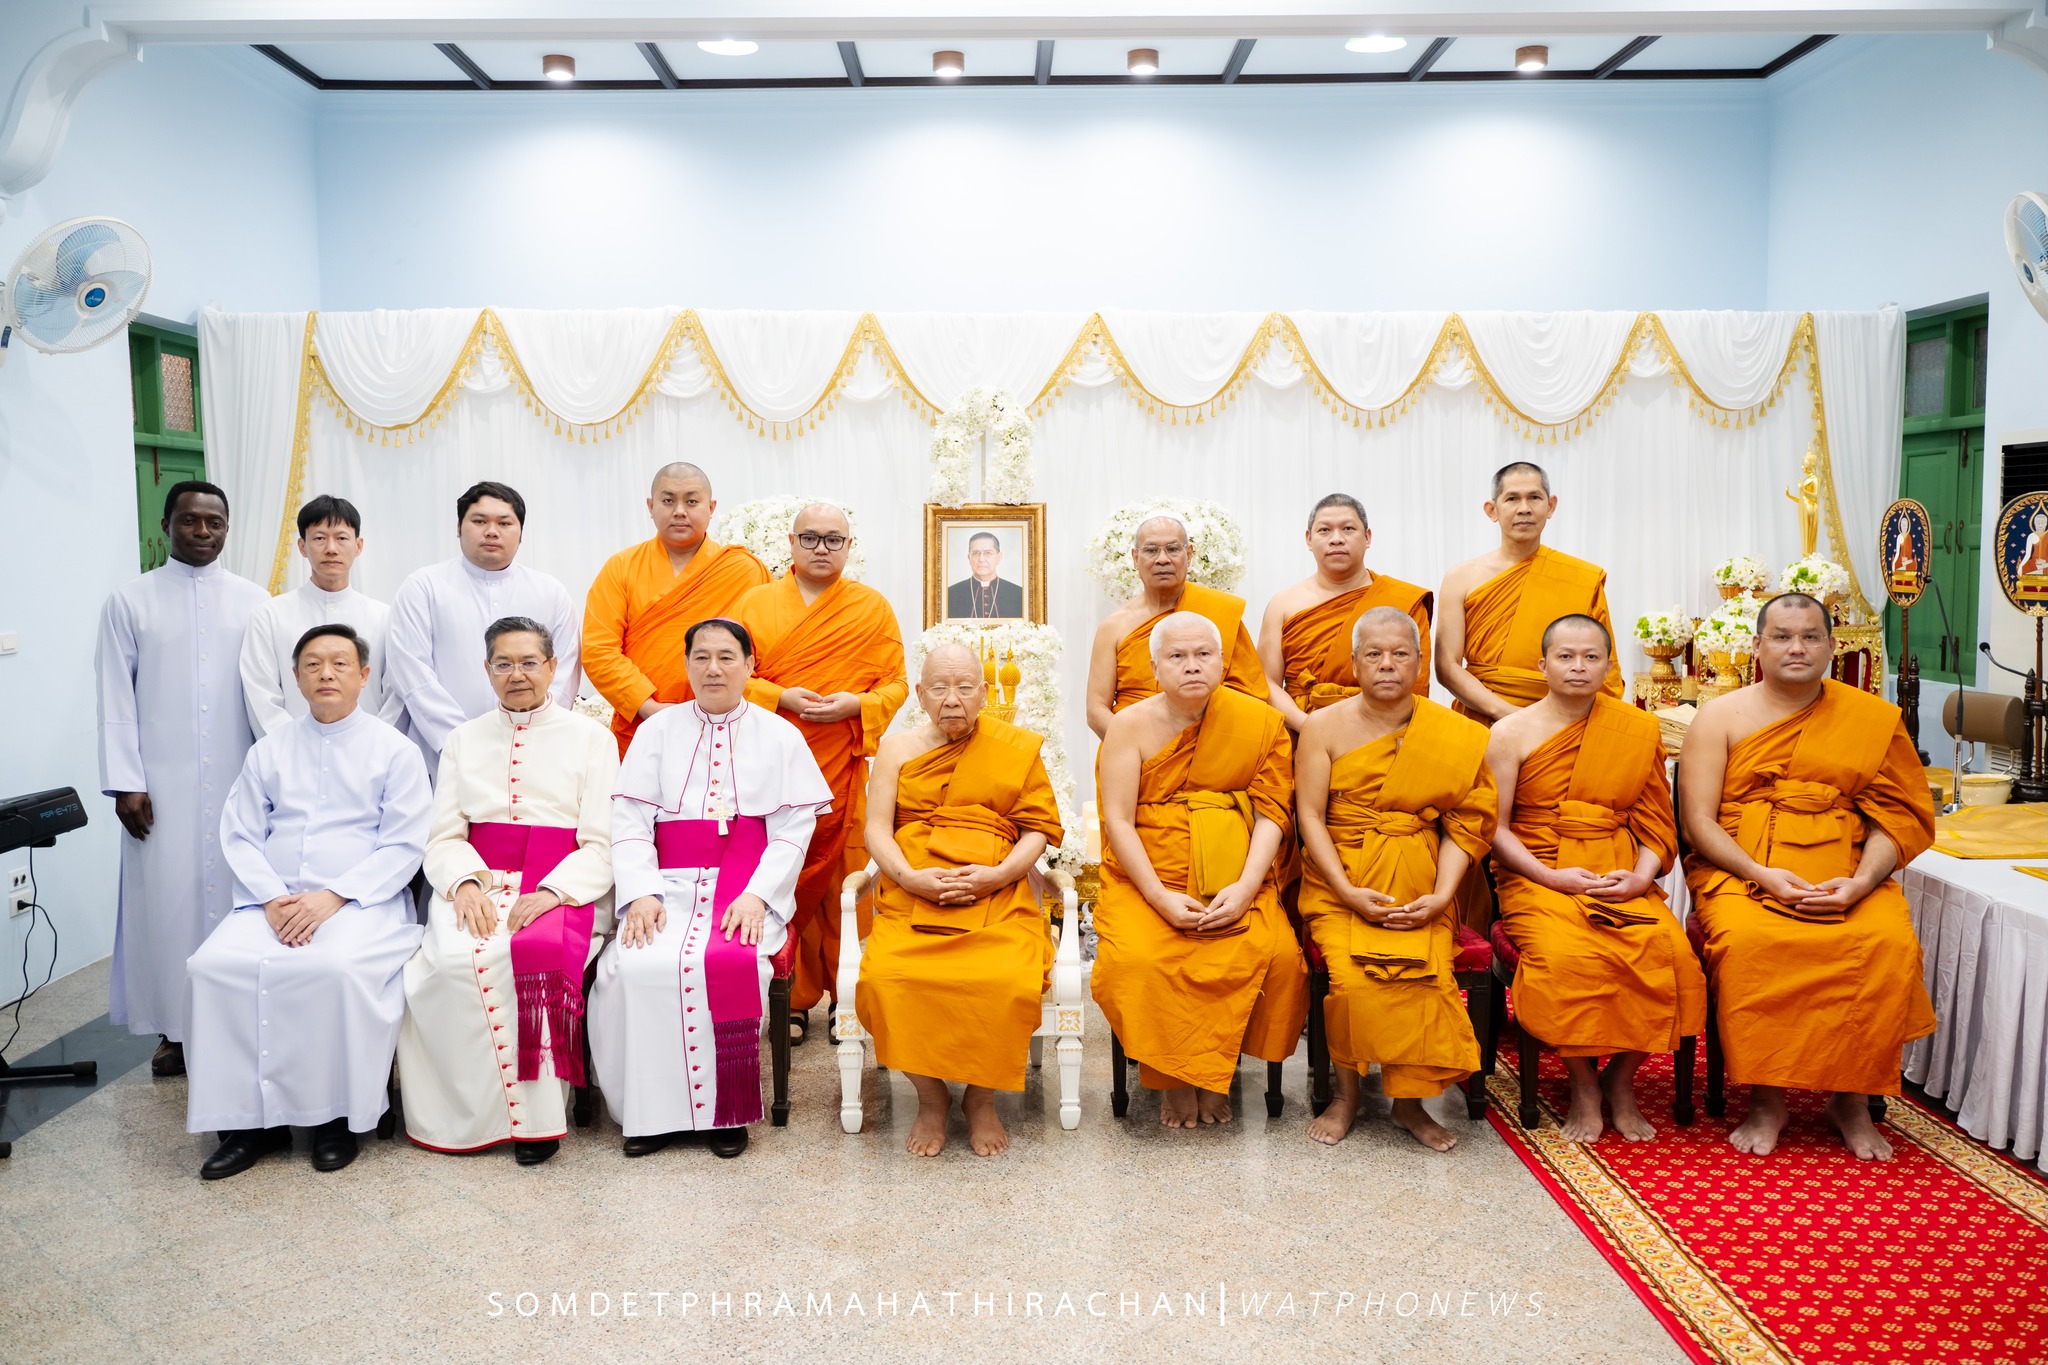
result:
M 1329 966 L 1335 1068 L 1309 1136 L 1343 1140 L 1360 1072 L 1378 1062 L 1395 1124 L 1446 1152 L 1456 1138 L 1421 1101 L 1479 1070 L 1452 966 L 1458 882 L 1497 819 L 1487 731 L 1415 696 L 1421 632 L 1401 608 L 1360 616 L 1354 643 L 1362 690 L 1309 716 L 1294 761 L 1300 917 Z

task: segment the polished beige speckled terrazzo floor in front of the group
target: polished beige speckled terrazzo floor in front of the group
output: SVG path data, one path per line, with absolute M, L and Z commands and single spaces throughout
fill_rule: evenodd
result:
M 104 964 L 68 976 L 10 1056 L 104 1009 Z M 0 1160 L 0 1361 L 1683 1359 L 1462 1105 L 1448 1156 L 1376 1095 L 1319 1148 L 1296 1056 L 1280 1119 L 1247 1066 L 1227 1128 L 1167 1132 L 1143 1093 L 1116 1121 L 1090 1029 L 1081 1128 L 1034 1074 L 991 1160 L 958 1111 L 944 1154 L 905 1154 L 915 1097 L 872 1070 L 866 1132 L 842 1134 L 823 1029 L 795 1052 L 791 1126 L 731 1162 L 625 1160 L 600 1115 L 530 1171 L 367 1142 L 315 1175 L 301 1136 L 201 1183 L 213 1140 L 143 1066 Z

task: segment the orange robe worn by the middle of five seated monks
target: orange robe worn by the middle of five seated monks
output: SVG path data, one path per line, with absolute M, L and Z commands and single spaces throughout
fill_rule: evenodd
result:
M 1487 851 L 1495 806 L 1485 726 L 1415 698 L 1405 729 L 1331 763 L 1323 827 L 1352 886 L 1407 905 L 1436 890 L 1444 839 L 1475 860 Z M 1423 929 L 1374 925 L 1307 862 L 1300 917 L 1329 968 L 1323 1023 L 1337 1066 L 1378 1062 L 1380 1091 L 1395 1099 L 1440 1095 L 1479 1068 L 1450 911 Z

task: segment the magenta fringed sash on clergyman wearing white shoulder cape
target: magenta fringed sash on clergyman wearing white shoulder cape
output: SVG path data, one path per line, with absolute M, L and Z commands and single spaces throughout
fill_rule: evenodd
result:
M 719 933 L 725 907 L 737 900 L 768 849 L 768 821 L 741 814 L 725 821 L 655 821 L 653 847 L 664 868 L 717 868 L 711 892 L 711 935 L 705 945 L 705 995 L 711 1036 L 719 1050 L 719 1103 L 713 1128 L 762 1119 L 762 978 L 760 945 Z

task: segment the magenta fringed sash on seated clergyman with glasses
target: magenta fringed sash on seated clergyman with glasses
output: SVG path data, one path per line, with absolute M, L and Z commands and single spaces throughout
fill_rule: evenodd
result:
M 541 880 L 575 851 L 575 831 L 561 825 L 471 825 L 469 847 L 485 868 L 518 868 L 518 890 L 539 890 Z M 541 1078 L 541 1033 L 555 1074 L 569 1085 L 584 1078 L 584 962 L 596 909 L 557 905 L 512 935 L 512 993 L 518 999 L 518 1078 Z

